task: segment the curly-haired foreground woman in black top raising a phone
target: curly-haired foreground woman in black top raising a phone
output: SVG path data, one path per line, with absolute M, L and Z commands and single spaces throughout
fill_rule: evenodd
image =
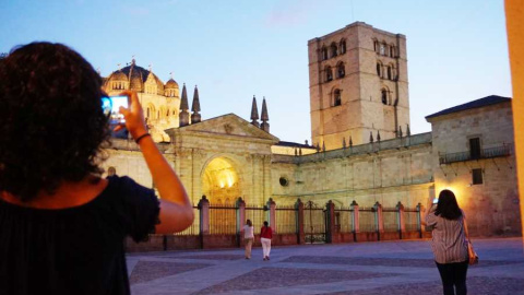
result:
M 121 108 L 160 199 L 103 179 L 102 80 L 72 49 L 33 43 L 0 60 L 0 294 L 129 294 L 123 239 L 183 231 L 186 190 L 147 134 L 136 94 Z

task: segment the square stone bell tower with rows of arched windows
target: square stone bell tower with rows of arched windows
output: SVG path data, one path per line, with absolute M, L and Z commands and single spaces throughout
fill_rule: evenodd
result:
M 356 22 L 308 42 L 313 145 L 341 149 L 409 125 L 406 36 Z

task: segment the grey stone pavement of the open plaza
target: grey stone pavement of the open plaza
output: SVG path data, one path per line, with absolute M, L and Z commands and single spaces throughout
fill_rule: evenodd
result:
M 524 294 L 521 238 L 476 239 L 478 266 L 468 294 Z M 426 240 L 273 247 L 262 261 L 242 249 L 128 255 L 131 291 L 140 294 L 362 294 L 440 295 L 442 286 Z

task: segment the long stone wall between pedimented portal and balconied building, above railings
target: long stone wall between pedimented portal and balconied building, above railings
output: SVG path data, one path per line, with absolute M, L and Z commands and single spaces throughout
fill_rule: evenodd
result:
M 434 193 L 431 152 L 431 134 L 422 133 L 301 157 L 273 155 L 273 199 L 281 204 L 333 200 L 345 206 L 378 201 L 388 208 L 401 201 L 414 208 Z

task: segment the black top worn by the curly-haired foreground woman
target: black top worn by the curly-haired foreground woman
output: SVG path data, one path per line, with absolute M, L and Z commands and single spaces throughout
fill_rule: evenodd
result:
M 130 294 L 123 240 L 154 233 L 159 202 L 129 177 L 108 180 L 74 208 L 0 200 L 0 294 Z

